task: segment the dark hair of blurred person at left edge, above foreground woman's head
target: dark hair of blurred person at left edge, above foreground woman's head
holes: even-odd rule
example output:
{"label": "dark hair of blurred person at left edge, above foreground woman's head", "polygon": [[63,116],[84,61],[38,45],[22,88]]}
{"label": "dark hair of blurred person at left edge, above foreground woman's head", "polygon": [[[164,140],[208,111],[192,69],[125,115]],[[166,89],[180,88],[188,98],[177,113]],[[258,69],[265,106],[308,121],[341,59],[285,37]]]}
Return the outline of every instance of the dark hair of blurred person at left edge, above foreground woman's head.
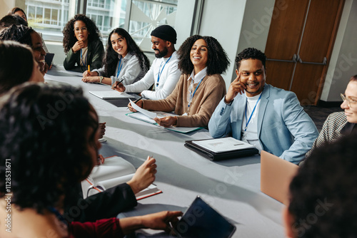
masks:
{"label": "dark hair of blurred person at left edge, above foreground woman's head", "polygon": [[29,81],[33,69],[34,56],[29,46],[16,41],[0,41],[0,95]]}

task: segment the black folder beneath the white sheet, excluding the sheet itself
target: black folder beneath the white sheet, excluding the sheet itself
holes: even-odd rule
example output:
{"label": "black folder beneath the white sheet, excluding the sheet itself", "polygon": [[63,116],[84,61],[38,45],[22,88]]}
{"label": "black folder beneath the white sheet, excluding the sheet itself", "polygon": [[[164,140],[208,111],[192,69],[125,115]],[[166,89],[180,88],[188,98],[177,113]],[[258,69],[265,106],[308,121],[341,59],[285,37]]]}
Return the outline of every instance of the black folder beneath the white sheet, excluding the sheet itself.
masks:
{"label": "black folder beneath the white sheet, excluding the sheet itself", "polygon": [[[208,140],[210,140],[210,139],[208,139]],[[196,141],[198,141],[198,140],[196,140]],[[196,145],[192,142],[193,142],[193,140],[186,140],[185,146],[187,148],[197,152],[199,155],[202,155],[203,157],[206,157],[208,160],[212,160],[212,161],[229,160],[229,159],[235,159],[238,157],[246,157],[246,156],[256,155],[259,152],[258,149],[256,149],[256,148],[231,150],[231,151],[226,151],[226,152],[213,152],[211,150],[207,150],[206,148],[202,148],[201,146]]]}

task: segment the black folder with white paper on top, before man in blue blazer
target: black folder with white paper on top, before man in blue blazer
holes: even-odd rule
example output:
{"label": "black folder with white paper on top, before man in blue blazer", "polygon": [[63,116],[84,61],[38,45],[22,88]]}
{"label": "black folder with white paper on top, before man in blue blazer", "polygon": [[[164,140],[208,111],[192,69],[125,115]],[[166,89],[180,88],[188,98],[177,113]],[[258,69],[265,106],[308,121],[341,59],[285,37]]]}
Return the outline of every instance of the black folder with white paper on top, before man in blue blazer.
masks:
{"label": "black folder with white paper on top, before man in blue blazer", "polygon": [[258,154],[253,145],[234,138],[186,140],[185,146],[208,160],[228,160]]}

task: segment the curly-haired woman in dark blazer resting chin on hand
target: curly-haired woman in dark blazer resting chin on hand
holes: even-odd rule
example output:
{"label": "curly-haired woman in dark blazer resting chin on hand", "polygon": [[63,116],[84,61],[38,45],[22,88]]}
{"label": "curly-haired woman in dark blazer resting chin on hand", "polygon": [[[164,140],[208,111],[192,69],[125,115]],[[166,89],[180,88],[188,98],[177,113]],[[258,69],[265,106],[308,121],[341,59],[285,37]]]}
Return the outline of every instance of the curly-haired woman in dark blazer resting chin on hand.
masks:
{"label": "curly-haired woman in dark blazer resting chin on hand", "polygon": [[104,46],[96,24],[83,14],[77,14],[64,26],[64,68],[84,72],[101,68]]}

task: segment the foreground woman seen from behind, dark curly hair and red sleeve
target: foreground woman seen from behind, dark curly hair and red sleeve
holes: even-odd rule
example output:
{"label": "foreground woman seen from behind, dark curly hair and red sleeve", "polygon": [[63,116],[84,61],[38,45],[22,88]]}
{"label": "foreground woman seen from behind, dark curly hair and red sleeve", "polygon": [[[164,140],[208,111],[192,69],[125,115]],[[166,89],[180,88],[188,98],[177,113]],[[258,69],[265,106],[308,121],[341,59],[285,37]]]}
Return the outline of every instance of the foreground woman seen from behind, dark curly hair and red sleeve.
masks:
{"label": "foreground woman seen from behind, dark curly hair and red sleeve", "polygon": [[25,83],[1,97],[0,237],[124,237],[177,222],[182,212],[66,220],[66,197],[97,164],[98,129],[98,115],[79,88]]}

